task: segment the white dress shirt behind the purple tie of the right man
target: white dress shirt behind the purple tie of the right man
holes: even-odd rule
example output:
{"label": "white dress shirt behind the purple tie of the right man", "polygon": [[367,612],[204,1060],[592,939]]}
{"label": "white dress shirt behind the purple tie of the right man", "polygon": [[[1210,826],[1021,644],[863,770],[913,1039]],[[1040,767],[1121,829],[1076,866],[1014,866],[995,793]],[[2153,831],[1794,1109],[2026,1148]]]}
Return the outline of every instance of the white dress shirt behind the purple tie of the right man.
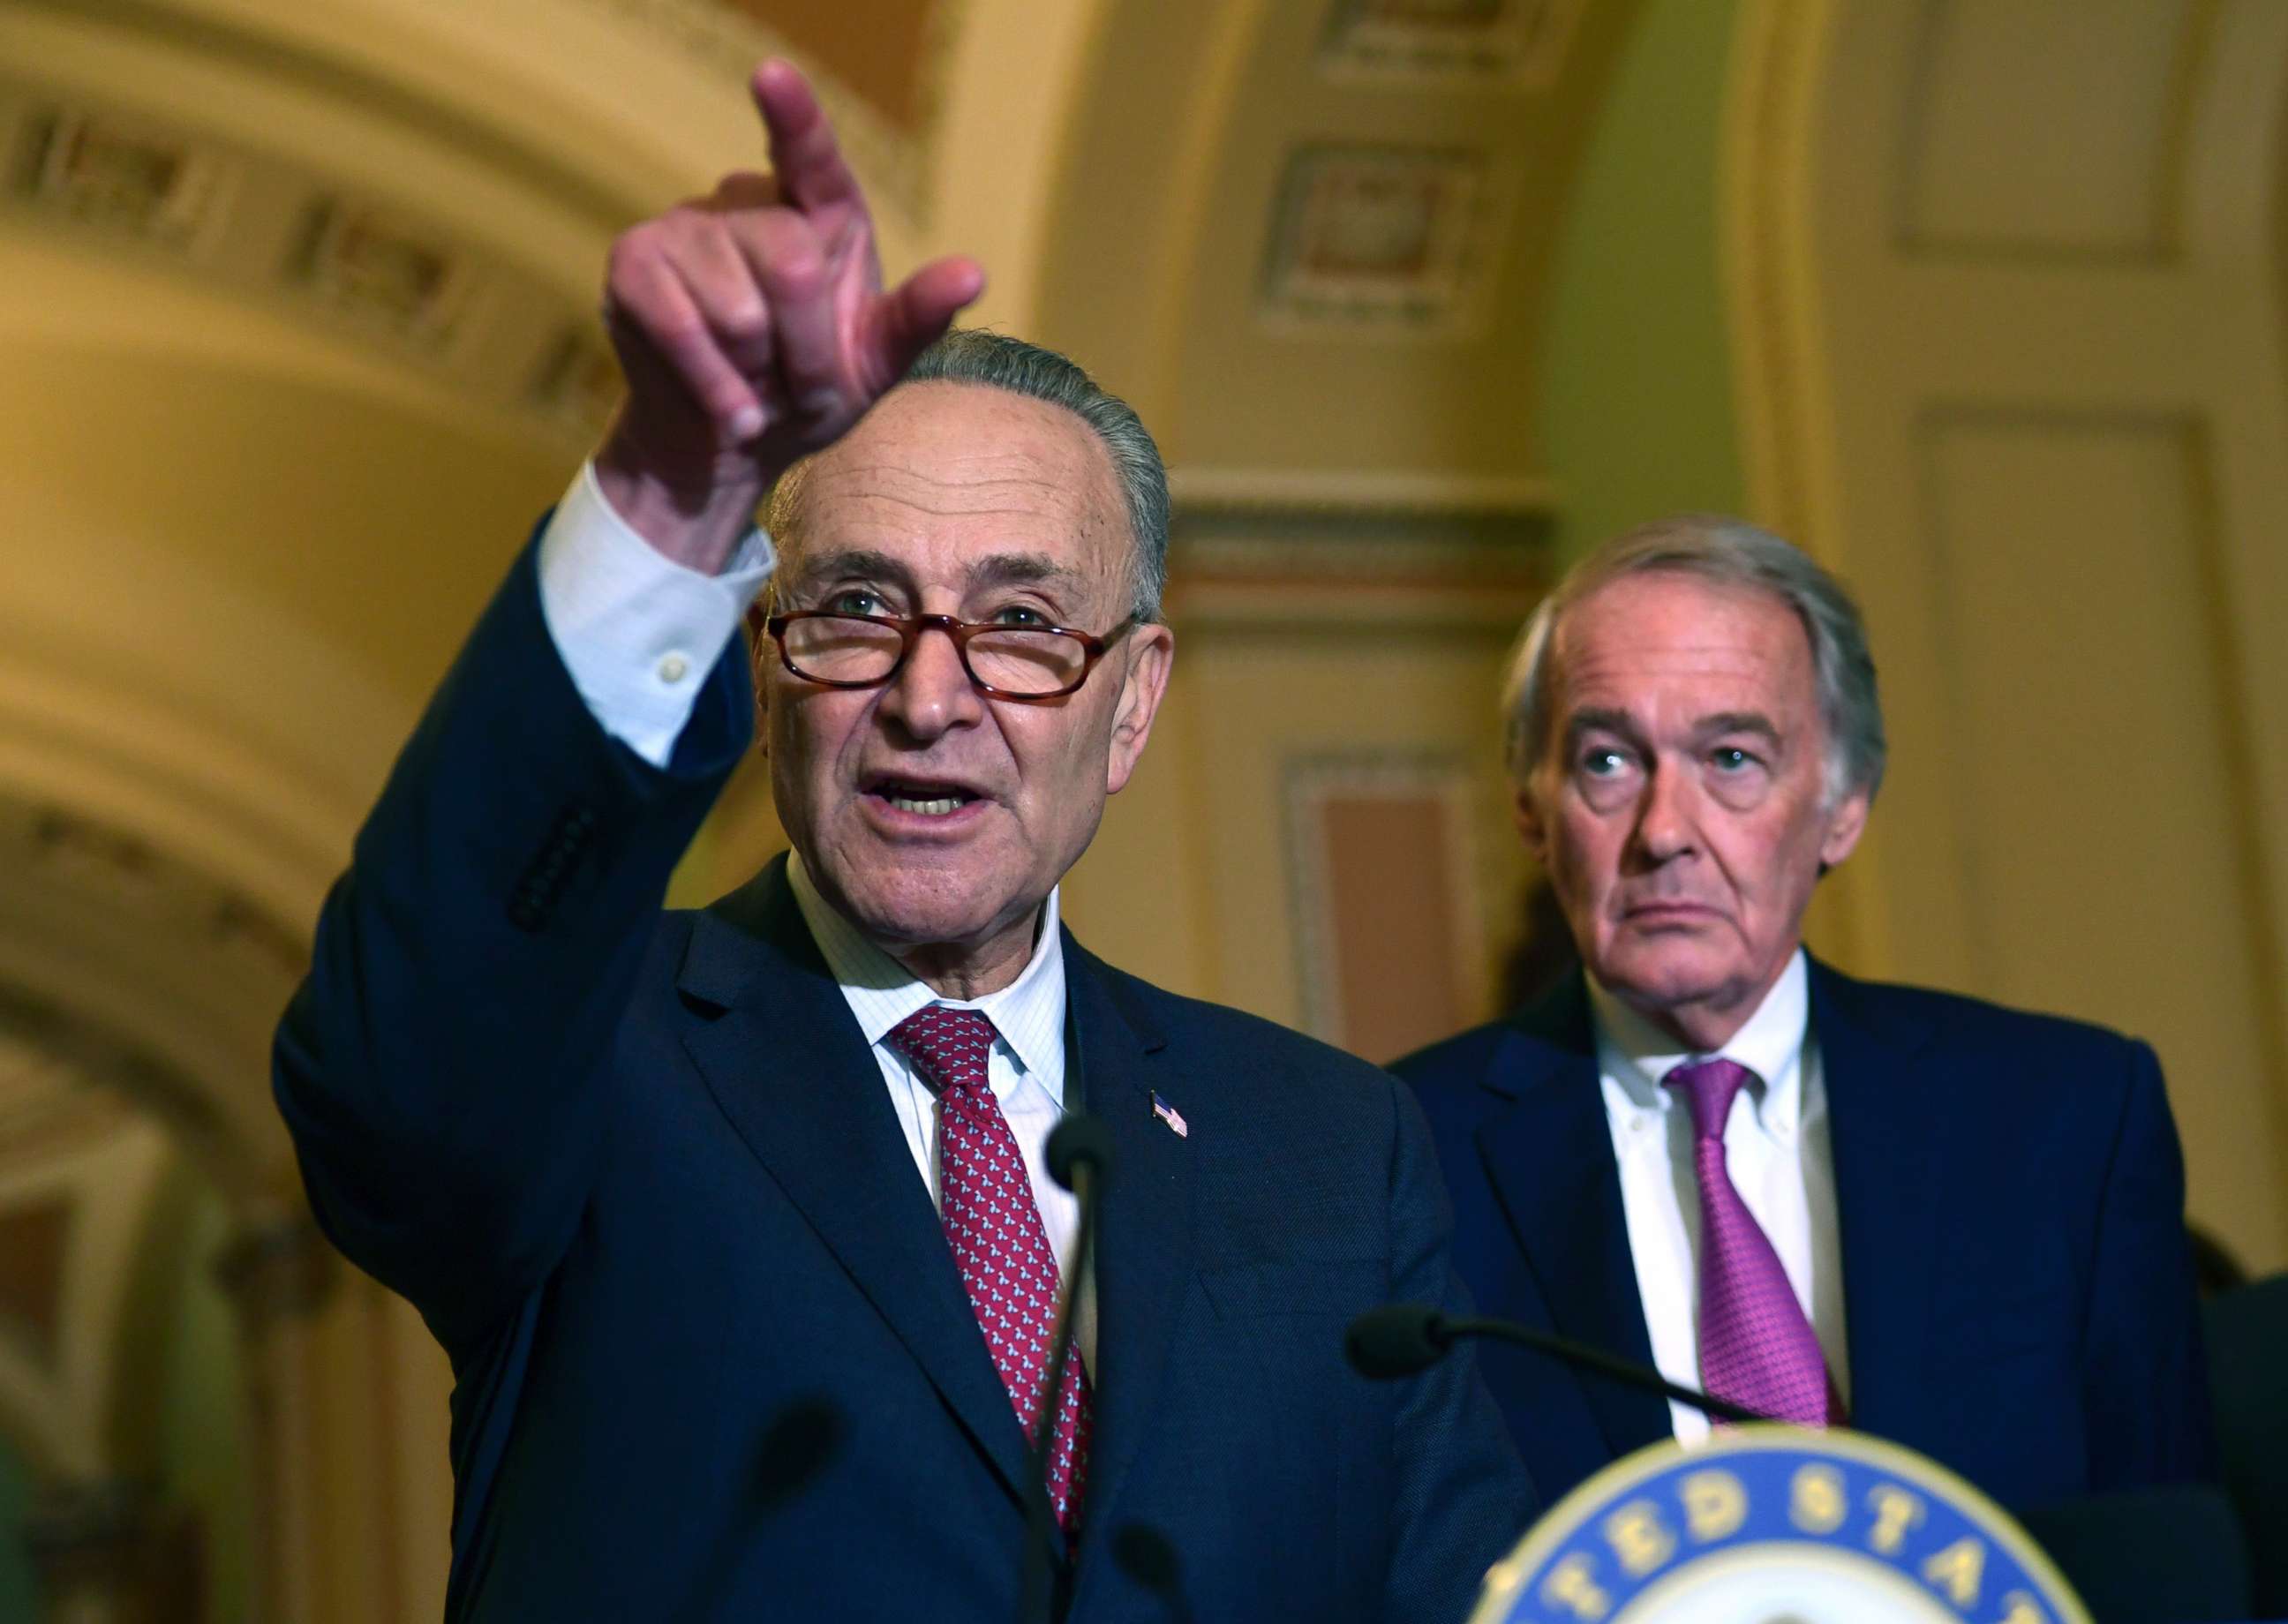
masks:
{"label": "white dress shirt behind the purple tie of the right man", "polygon": [[[1673,1068],[1707,1059],[1588,979],[1597,1027],[1620,1205],[1629,1221],[1636,1290],[1652,1334],[1652,1363],[1684,1386],[1700,1386],[1700,1183],[1693,1173],[1691,1107],[1661,1086]],[[1844,1368],[1842,1247],[1835,1231],[1835,1157],[1819,1043],[1810,1029],[1810,970],[1803,949],[1732,1041],[1716,1050],[1757,1075],[1725,1119],[1725,1167],[1741,1201],[1771,1237],[1796,1301],[1812,1320],[1835,1391],[1851,1398]],[[1682,1443],[1709,1434],[1707,1416],[1668,1407]]]}

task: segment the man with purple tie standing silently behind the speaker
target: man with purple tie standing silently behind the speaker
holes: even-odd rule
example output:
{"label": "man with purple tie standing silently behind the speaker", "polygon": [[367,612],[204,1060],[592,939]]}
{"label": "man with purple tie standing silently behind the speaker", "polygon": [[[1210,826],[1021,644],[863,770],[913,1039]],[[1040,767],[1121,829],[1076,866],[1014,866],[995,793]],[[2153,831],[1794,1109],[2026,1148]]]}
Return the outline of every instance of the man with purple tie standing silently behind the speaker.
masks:
{"label": "man with purple tie standing silently behind the speaker", "polygon": [[[1590,554],[1519,645],[1517,819],[1583,974],[1398,1070],[1487,1313],[2029,1505],[2212,1471],[2153,1050],[1805,956],[1883,782],[1858,608],[1775,535]],[[1707,1420],[1487,1361],[1535,1482]]]}

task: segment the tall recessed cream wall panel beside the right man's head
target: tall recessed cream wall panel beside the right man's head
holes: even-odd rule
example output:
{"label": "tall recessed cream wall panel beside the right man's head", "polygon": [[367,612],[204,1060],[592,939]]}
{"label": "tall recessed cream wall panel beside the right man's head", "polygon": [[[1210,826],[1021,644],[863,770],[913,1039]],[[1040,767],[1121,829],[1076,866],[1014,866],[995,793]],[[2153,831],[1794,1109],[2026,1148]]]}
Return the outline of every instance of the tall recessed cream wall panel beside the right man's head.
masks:
{"label": "tall recessed cream wall panel beside the right man's head", "polygon": [[2151,1038],[2194,1215],[2274,1233],[2245,1121],[2279,1084],[2274,956],[2199,425],[1936,414],[1924,469],[1972,986]]}

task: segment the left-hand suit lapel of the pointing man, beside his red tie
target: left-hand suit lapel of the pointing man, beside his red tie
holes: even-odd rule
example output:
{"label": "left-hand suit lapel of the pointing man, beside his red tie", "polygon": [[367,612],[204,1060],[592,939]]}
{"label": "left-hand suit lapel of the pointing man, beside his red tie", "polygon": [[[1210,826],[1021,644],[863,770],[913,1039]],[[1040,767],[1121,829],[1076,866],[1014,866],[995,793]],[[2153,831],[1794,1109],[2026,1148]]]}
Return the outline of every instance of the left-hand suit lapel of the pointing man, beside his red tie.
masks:
{"label": "left-hand suit lapel of the pointing man, beside his red tie", "polygon": [[677,986],[723,1011],[693,1025],[684,1048],[732,1128],[1023,1496],[1025,1439],[1009,1393],[785,862],[693,922]]}

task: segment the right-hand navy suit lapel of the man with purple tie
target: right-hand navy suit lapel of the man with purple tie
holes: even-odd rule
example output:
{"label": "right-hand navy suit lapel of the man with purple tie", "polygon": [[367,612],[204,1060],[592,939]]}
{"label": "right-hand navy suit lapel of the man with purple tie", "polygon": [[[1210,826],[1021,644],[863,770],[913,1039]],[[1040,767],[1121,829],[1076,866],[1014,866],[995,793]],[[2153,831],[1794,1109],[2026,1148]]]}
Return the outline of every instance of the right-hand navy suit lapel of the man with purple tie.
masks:
{"label": "right-hand navy suit lapel of the man with purple tie", "polygon": [[1931,1032],[1814,961],[1812,1034],[1835,1155],[1851,1418],[1888,1430],[1924,1386],[1938,1267],[1943,1123],[1931,1109],[1933,1080],[1915,1068]]}

